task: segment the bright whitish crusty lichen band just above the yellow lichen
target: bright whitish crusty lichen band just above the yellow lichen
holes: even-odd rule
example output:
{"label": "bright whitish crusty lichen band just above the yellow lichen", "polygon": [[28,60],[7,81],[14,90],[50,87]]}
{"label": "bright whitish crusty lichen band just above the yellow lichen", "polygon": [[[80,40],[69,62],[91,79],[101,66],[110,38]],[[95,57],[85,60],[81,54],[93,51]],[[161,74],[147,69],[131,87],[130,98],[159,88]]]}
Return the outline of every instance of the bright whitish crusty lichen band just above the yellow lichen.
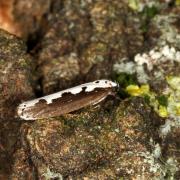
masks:
{"label": "bright whitish crusty lichen band just above the yellow lichen", "polygon": [[[148,83],[152,78],[149,77],[149,72],[154,76],[155,80],[164,80],[166,69],[163,69],[162,64],[168,63],[170,66],[176,66],[175,63],[180,63],[180,51],[175,47],[165,45],[162,47],[154,47],[147,53],[137,54],[134,57],[134,62],[122,61],[114,65],[114,71],[117,73],[137,74],[139,83]],[[147,70],[144,65],[146,65]],[[157,68],[154,71],[154,67]]]}

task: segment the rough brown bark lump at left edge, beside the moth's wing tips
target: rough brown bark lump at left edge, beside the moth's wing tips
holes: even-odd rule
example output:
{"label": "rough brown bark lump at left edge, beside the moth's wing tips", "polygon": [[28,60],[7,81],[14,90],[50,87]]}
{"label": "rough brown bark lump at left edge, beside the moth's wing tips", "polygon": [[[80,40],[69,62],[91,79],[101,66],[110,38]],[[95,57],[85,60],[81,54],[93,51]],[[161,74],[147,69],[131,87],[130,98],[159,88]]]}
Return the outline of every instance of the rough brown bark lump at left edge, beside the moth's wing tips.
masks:
{"label": "rough brown bark lump at left edge, beside the moth's wing tips", "polygon": [[[13,119],[21,99],[32,97],[33,64],[23,41],[0,30],[0,119]],[[30,96],[31,95],[31,96]]]}

